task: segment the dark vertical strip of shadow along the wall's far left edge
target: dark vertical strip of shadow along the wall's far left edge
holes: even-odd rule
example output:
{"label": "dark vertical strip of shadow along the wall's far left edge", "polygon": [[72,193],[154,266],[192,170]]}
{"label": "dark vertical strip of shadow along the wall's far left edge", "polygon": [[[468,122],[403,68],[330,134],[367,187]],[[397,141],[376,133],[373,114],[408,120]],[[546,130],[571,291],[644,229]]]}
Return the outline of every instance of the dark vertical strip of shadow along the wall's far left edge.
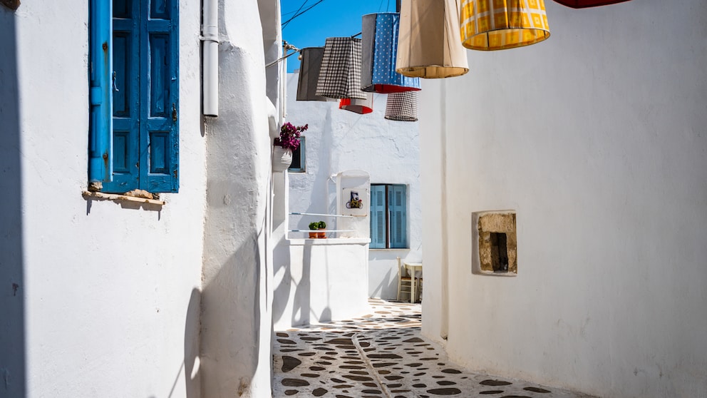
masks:
{"label": "dark vertical strip of shadow along the wall's far left edge", "polygon": [[19,90],[15,14],[0,6],[0,397],[26,396]]}

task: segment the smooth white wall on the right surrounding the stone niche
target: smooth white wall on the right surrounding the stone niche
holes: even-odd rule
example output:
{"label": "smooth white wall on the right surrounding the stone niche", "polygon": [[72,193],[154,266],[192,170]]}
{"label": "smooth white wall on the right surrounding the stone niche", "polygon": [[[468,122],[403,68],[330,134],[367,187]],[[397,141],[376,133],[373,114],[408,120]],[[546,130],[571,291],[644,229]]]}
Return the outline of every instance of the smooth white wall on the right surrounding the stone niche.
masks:
{"label": "smooth white wall on the right surrounding the stone niche", "polygon": [[[707,5],[545,4],[547,41],[423,82],[423,332],[490,374],[705,397]],[[471,213],[503,209],[518,275],[473,275]]]}

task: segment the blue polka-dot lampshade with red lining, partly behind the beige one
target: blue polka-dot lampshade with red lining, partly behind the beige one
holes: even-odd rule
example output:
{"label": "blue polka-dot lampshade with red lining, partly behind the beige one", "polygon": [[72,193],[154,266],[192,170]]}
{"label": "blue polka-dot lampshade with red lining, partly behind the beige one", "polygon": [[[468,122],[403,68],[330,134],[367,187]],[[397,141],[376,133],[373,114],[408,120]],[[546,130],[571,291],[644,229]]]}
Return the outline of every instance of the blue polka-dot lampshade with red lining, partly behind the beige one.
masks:
{"label": "blue polka-dot lampshade with red lining, partly behind the beige one", "polygon": [[396,72],[400,14],[386,12],[363,16],[361,88],[376,93],[398,93],[420,89],[420,78]]}

